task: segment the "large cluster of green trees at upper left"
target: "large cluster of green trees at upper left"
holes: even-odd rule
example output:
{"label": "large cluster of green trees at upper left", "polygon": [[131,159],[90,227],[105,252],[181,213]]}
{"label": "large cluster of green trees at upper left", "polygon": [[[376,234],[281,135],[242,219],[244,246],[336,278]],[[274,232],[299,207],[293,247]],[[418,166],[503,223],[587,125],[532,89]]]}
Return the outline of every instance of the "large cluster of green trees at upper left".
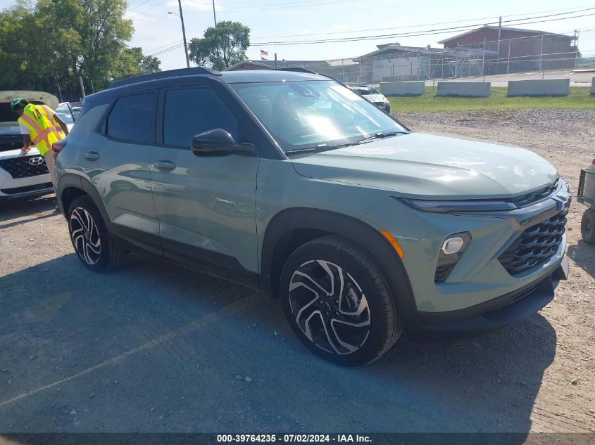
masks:
{"label": "large cluster of green trees at upper left", "polygon": [[159,70],[159,60],[128,48],[125,0],[19,0],[0,11],[0,89],[77,96],[82,77],[102,89],[113,79]]}

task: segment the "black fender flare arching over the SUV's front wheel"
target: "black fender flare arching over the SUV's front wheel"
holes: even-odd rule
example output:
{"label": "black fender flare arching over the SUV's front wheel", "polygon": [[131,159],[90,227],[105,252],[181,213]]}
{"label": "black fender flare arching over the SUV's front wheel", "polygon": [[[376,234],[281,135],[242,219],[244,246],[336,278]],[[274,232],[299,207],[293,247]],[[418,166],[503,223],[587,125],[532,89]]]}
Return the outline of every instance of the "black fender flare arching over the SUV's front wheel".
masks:
{"label": "black fender flare arching over the SUV's front wheel", "polygon": [[304,229],[342,236],[366,250],[387,279],[402,320],[411,320],[409,315],[415,314],[413,290],[405,266],[394,248],[376,228],[360,219],[329,210],[306,207],[285,209],[271,219],[261,251],[261,290],[265,295],[276,296],[278,293],[276,282],[283,264],[278,264],[277,257],[279,250],[284,250],[280,244],[292,232]]}

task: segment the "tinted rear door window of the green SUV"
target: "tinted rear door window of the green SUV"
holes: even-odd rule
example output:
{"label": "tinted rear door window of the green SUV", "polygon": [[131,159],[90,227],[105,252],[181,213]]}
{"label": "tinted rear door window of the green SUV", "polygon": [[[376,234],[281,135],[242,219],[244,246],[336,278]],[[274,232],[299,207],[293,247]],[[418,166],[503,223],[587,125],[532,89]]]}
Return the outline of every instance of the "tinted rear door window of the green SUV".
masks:
{"label": "tinted rear door window of the green SUV", "polygon": [[108,136],[123,141],[153,143],[154,93],[118,99],[108,117]]}

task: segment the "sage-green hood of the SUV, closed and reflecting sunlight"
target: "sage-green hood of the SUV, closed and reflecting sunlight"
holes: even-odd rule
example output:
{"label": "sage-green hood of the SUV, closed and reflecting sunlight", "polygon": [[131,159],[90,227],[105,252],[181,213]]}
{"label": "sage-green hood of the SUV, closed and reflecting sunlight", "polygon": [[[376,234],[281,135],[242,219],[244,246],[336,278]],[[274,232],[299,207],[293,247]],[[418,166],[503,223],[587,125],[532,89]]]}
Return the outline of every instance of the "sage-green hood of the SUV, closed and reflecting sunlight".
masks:
{"label": "sage-green hood of the SUV, closed and reflecting sunlight", "polygon": [[292,158],[302,176],[406,198],[510,198],[553,183],[556,169],[522,148],[411,133]]}

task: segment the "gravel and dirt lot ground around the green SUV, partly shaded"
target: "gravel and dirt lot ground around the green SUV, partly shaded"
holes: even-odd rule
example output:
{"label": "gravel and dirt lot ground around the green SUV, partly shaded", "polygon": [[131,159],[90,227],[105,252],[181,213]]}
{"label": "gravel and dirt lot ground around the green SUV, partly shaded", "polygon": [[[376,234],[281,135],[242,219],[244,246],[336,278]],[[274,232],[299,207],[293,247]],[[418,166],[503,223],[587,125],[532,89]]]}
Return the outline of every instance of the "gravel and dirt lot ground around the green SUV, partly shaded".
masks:
{"label": "gravel and dirt lot ground around the green SUV, partly shaded", "polygon": [[[399,117],[530,148],[573,190],[595,152],[593,110]],[[572,203],[571,278],[539,314],[475,339],[402,340],[344,369],[303,348],[277,302],[149,257],[95,275],[53,197],[4,205],[0,432],[595,432],[583,209]]]}

